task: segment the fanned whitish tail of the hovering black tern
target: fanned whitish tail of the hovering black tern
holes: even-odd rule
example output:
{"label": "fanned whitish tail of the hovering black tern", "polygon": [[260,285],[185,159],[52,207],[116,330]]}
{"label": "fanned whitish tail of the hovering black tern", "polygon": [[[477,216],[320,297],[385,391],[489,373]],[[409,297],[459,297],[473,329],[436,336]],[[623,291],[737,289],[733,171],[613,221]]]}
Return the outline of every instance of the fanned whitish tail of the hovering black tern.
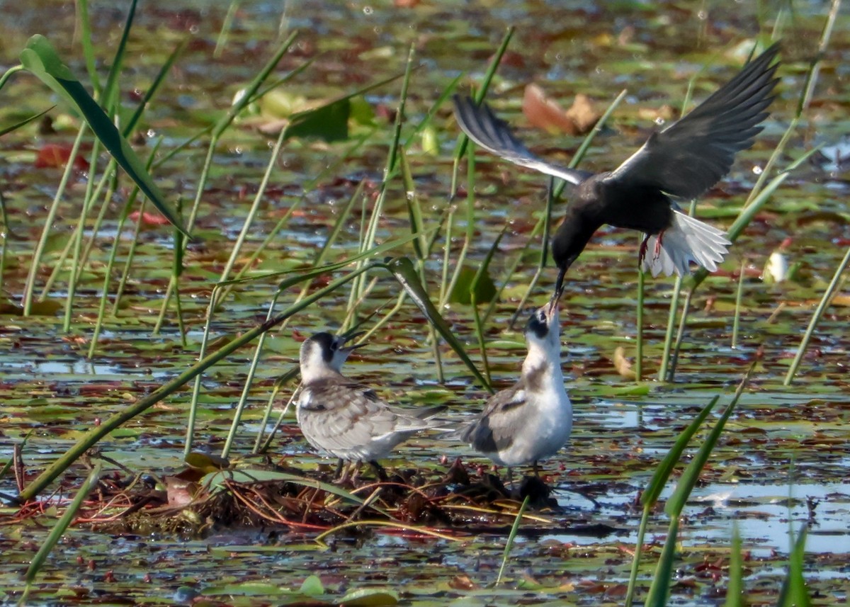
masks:
{"label": "fanned whitish tail of the hovering black tern", "polygon": [[674,210],[672,225],[647,237],[643,248],[643,271],[649,271],[653,276],[661,272],[668,276],[673,272],[684,276],[690,273],[689,262],[694,261],[713,272],[731,244],[723,231]]}

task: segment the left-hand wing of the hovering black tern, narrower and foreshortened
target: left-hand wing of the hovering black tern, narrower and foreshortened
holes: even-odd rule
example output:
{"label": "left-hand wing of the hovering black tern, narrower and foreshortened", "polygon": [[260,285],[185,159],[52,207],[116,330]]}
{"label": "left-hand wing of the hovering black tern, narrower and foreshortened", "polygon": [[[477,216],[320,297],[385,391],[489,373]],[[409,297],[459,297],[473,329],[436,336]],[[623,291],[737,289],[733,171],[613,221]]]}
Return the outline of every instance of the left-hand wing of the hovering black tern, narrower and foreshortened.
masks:
{"label": "left-hand wing of the hovering black tern, narrower and foreshortened", "polygon": [[559,167],[557,164],[538,158],[516,138],[507,126],[507,122],[498,118],[490,110],[489,105],[483,102],[481,105],[476,105],[473,99],[460,95],[455,95],[454,101],[457,124],[464,133],[467,133],[469,139],[490,154],[501,156],[520,167],[533,168],[541,173],[564,179],[571,184],[580,184],[593,174],[574,168]]}

